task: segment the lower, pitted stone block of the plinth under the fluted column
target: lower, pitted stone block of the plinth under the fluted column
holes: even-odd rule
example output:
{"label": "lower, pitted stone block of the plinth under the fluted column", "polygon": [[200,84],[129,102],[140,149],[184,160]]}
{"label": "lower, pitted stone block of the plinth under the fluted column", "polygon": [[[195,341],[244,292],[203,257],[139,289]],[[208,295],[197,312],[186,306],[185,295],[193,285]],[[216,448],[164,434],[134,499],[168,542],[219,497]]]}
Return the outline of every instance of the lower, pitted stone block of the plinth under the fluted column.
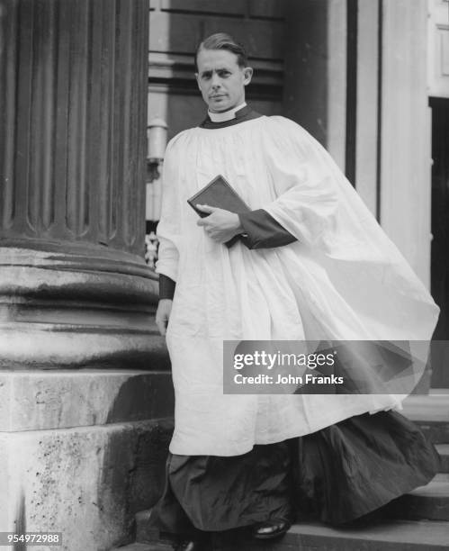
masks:
{"label": "lower, pitted stone block of the plinth under the fluted column", "polygon": [[171,420],[0,434],[0,530],[61,531],[60,551],[130,541],[162,492]]}

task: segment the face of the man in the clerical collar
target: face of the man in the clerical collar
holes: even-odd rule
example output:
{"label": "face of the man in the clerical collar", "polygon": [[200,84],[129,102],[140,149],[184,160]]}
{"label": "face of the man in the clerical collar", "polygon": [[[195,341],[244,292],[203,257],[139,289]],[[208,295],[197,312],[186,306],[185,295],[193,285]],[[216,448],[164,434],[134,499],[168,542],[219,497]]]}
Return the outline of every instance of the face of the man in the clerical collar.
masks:
{"label": "face of the man in the clerical collar", "polygon": [[202,99],[212,113],[221,113],[245,101],[245,86],[253,69],[238,66],[237,55],[228,50],[200,50],[196,80]]}

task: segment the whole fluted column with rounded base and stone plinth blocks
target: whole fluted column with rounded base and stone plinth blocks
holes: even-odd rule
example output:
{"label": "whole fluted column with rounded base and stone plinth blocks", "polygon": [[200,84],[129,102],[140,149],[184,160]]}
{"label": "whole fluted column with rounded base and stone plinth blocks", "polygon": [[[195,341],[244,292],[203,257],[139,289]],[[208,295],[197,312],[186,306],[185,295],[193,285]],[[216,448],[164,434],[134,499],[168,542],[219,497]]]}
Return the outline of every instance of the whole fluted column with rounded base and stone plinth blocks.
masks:
{"label": "whole fluted column with rounded base and stone plinth blocks", "polygon": [[96,551],[156,499],[173,408],[148,373],[148,0],[0,0],[0,82],[0,531]]}

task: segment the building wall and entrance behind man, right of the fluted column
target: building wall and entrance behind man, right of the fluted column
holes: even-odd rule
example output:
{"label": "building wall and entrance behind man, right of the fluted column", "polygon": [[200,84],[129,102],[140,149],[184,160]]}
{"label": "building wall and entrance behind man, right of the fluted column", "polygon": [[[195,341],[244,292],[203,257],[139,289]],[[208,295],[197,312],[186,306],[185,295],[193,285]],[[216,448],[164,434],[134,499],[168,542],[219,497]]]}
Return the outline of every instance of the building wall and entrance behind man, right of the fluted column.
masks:
{"label": "building wall and entrance behind man, right of the fluted column", "polygon": [[[249,102],[328,149],[431,288],[449,339],[449,2],[152,0],[149,28],[149,120],[169,138],[202,121],[193,52],[232,34],[255,68]],[[432,384],[448,387],[449,350],[433,357]]]}

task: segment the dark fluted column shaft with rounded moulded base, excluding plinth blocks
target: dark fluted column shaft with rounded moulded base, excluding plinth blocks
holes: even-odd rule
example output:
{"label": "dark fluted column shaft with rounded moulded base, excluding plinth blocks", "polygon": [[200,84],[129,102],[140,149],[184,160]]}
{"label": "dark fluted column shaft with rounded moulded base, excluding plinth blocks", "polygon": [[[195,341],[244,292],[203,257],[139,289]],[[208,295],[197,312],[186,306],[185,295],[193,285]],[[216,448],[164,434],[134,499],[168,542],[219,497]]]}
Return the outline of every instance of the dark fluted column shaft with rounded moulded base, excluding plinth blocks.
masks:
{"label": "dark fluted column shaft with rounded moulded base, excluding plinth blocks", "polygon": [[148,362],[148,0],[0,1],[0,366]]}

